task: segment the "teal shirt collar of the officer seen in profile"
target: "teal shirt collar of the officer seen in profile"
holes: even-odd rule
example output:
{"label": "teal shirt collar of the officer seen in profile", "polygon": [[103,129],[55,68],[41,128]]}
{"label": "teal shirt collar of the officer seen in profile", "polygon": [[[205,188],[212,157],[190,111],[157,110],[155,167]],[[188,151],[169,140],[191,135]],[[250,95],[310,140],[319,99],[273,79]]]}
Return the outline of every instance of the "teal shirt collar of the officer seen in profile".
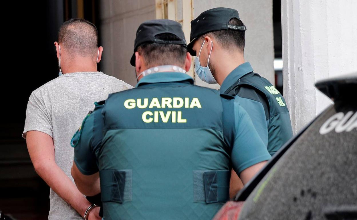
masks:
{"label": "teal shirt collar of the officer seen in profile", "polygon": [[227,89],[232,86],[235,82],[237,82],[242,76],[247,73],[253,72],[253,68],[249,62],[242,63],[237,66],[223,81],[222,86],[220,88],[220,92],[224,93]]}

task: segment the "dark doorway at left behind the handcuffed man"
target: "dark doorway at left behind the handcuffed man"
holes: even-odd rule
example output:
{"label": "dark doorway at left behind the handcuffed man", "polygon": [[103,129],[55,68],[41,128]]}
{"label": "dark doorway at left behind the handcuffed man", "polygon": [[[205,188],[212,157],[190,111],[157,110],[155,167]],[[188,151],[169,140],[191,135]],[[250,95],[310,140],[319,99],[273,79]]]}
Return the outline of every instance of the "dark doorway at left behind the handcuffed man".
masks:
{"label": "dark doorway at left behind the handcuffed man", "polygon": [[21,134],[33,90],[58,76],[54,42],[65,20],[99,23],[95,0],[6,1],[3,8],[0,210],[17,220],[48,219],[49,187],[36,174]]}

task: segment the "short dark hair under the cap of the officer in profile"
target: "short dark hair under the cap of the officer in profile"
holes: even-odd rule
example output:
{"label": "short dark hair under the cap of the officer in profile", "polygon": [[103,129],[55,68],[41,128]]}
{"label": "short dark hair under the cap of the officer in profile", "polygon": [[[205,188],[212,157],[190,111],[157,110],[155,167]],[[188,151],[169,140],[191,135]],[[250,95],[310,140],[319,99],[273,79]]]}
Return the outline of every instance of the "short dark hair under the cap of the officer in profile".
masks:
{"label": "short dark hair under the cap of the officer in profile", "polygon": [[[244,25],[241,20],[236,19],[236,18],[232,18],[231,20],[229,20],[228,24],[236,25],[236,26]],[[232,45],[236,46],[238,48],[238,50],[240,50],[242,53],[244,51],[245,31],[238,31],[238,30],[232,30],[232,29],[212,31],[212,32],[203,34],[200,37],[200,40],[203,41],[203,39],[207,35],[213,36],[217,40],[217,42],[219,44],[221,44],[222,47],[228,51],[232,50]]]}

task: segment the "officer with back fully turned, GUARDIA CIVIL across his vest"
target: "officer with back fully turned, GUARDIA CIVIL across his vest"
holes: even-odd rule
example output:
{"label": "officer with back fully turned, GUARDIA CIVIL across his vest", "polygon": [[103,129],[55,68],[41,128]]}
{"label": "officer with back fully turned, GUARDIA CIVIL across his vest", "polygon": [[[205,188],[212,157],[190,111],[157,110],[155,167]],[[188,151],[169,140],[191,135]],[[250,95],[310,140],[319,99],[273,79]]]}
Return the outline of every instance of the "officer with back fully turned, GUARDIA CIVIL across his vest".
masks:
{"label": "officer with back fully turned, GUARDIA CIVIL across his vest", "polygon": [[228,200],[231,164],[246,183],[270,154],[233,97],[185,74],[179,23],[142,23],[130,63],[136,88],[97,103],[72,139],[78,189],[101,192],[105,220],[211,219]]}

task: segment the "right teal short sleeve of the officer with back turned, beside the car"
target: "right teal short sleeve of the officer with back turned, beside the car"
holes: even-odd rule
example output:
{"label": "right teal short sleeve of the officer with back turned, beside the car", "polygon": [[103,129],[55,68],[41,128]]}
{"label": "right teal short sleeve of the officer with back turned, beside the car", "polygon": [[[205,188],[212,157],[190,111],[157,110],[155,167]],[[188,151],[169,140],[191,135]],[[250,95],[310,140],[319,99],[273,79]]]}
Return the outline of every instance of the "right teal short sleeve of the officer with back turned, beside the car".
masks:
{"label": "right teal short sleeve of the officer with back turned, beside the car", "polygon": [[233,169],[240,174],[254,164],[271,158],[266,145],[260,139],[248,113],[238,102],[235,108],[235,131],[232,147]]}

